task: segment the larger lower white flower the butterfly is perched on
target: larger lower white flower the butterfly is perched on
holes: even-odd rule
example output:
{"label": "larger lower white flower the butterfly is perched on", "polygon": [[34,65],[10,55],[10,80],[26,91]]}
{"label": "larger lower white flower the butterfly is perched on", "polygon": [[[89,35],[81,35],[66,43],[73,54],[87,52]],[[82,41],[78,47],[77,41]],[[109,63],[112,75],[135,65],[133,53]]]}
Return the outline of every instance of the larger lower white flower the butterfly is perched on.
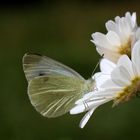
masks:
{"label": "larger lower white flower the butterfly is perched on", "polygon": [[115,106],[138,95],[140,92],[140,41],[137,41],[132,49],[131,60],[127,55],[121,56],[110,73],[110,78],[106,78],[104,83],[99,84],[99,91],[87,93],[70,111],[71,114],[88,111],[80,122],[81,128],[100,105],[113,100],[113,106]]}

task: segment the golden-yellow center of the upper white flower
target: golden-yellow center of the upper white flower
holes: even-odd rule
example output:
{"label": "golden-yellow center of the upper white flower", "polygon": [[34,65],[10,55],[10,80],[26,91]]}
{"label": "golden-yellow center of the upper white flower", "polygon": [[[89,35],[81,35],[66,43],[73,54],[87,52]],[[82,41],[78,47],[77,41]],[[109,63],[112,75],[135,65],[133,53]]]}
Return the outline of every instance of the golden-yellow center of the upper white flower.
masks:
{"label": "golden-yellow center of the upper white flower", "polygon": [[120,47],[119,53],[121,55],[126,54],[128,57],[131,57],[131,39],[128,39],[128,41]]}

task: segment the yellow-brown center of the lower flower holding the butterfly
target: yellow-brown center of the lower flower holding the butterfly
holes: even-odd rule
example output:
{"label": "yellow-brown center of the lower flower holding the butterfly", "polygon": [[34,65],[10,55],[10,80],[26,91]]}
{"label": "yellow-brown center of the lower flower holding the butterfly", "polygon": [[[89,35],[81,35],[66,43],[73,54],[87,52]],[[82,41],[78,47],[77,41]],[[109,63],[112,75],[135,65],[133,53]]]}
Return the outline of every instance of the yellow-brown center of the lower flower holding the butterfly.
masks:
{"label": "yellow-brown center of the lower flower holding the butterfly", "polygon": [[117,93],[114,99],[113,106],[118,105],[121,102],[129,101],[133,97],[136,97],[140,92],[140,77],[136,77],[131,81],[131,84],[123,89],[122,92]]}

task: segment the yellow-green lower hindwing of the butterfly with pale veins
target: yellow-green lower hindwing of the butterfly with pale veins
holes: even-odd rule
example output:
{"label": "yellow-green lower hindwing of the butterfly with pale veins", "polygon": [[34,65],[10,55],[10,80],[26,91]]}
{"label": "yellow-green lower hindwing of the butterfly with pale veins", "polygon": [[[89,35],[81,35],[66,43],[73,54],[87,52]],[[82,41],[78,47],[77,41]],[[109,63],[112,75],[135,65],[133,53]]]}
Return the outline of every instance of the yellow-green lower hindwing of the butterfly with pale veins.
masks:
{"label": "yellow-green lower hindwing of the butterfly with pale veins", "polygon": [[58,117],[72,109],[84,94],[85,80],[64,75],[40,76],[32,79],[28,95],[32,105],[43,116]]}

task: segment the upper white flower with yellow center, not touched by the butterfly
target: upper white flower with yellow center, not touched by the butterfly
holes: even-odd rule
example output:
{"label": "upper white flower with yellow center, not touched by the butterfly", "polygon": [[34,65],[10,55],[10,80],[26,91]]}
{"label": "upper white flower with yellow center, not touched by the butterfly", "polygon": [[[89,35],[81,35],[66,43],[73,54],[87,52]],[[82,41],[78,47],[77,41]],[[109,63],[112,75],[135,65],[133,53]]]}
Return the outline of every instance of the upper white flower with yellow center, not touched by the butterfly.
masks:
{"label": "upper white flower with yellow center, not touched by the butterfly", "polygon": [[140,29],[137,27],[136,13],[127,12],[125,17],[115,17],[115,21],[106,23],[107,34],[93,33],[91,40],[100,55],[117,63],[121,55],[131,55],[134,43],[140,38]]}

